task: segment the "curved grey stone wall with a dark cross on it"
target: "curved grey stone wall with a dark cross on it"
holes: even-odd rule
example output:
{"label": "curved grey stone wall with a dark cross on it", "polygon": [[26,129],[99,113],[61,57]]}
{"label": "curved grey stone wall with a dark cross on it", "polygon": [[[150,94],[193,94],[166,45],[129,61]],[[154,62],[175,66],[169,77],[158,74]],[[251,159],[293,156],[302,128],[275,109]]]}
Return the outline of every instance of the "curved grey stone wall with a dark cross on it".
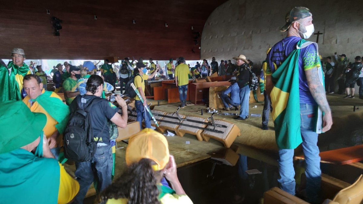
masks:
{"label": "curved grey stone wall with a dark cross on it", "polygon": [[[285,15],[295,6],[304,6],[313,13],[315,32],[319,36],[319,54],[346,54],[350,62],[363,56],[362,1],[314,0],[229,0],[217,7],[204,25],[201,39],[201,59],[216,61],[244,54],[261,65],[266,50],[286,37],[280,32]],[[317,35],[310,41],[316,42]]]}

